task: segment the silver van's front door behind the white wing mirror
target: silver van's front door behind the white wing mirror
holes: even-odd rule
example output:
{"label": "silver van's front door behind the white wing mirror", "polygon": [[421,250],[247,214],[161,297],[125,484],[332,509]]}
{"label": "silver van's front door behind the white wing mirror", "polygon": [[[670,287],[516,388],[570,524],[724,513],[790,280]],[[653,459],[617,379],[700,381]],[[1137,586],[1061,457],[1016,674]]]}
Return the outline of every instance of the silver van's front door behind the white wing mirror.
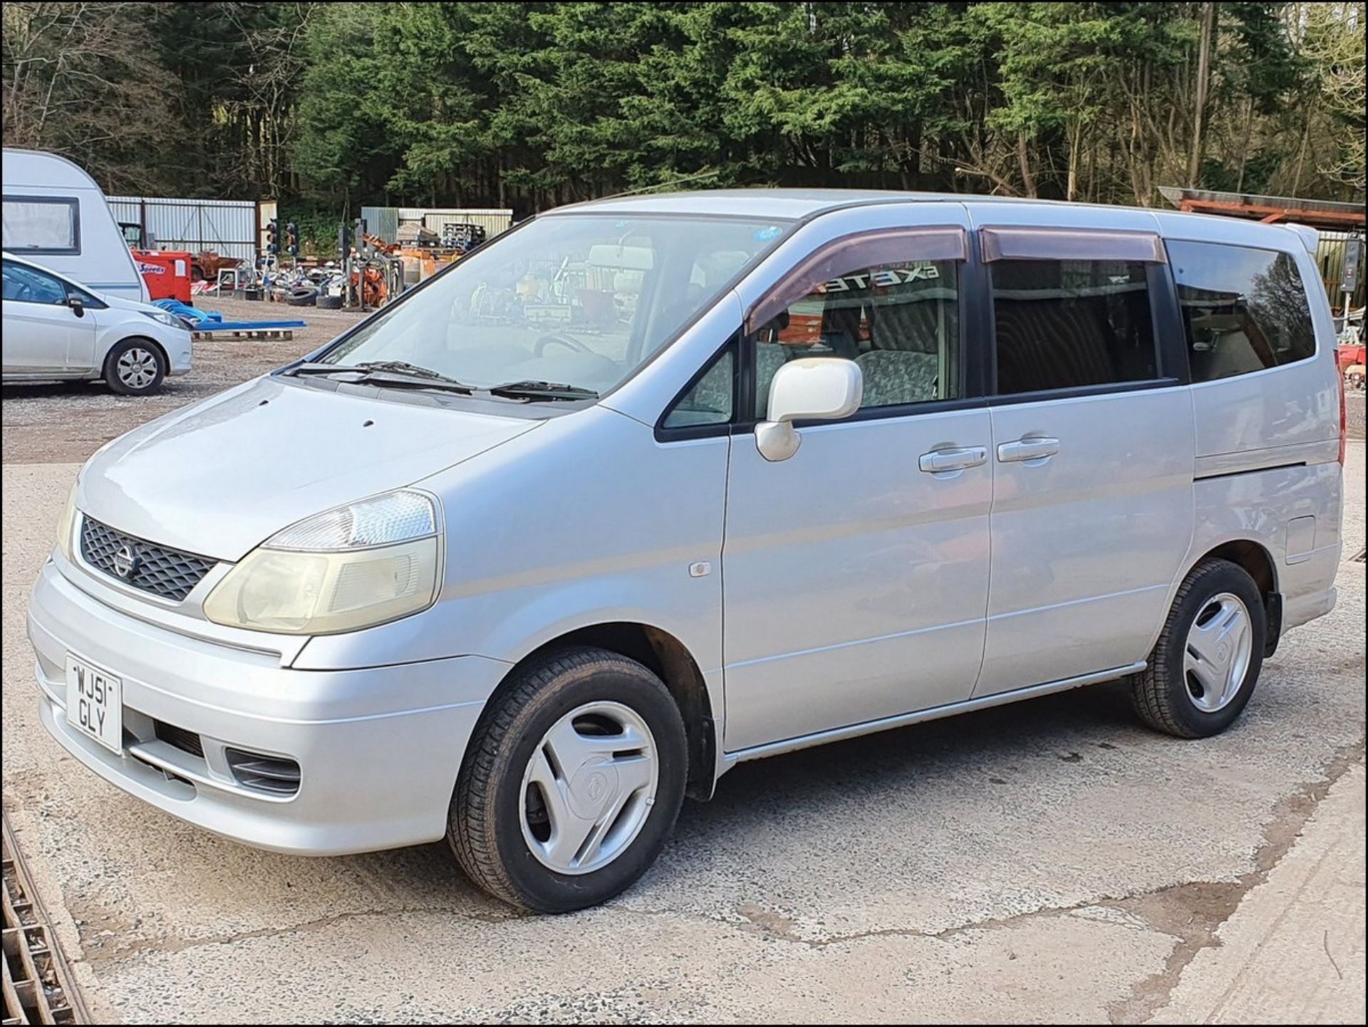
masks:
{"label": "silver van's front door behind the white wing mirror", "polygon": [[[955,232],[956,246],[962,234]],[[955,249],[953,246],[951,249]],[[788,360],[843,357],[860,410],[770,462],[733,439],[722,548],[726,751],[967,699],[982,658],[993,465],[966,399],[964,250],[843,239],[743,339],[763,420]],[[818,257],[819,254],[814,254]],[[813,282],[813,269],[819,268]],[[796,274],[796,272],[795,272]]]}

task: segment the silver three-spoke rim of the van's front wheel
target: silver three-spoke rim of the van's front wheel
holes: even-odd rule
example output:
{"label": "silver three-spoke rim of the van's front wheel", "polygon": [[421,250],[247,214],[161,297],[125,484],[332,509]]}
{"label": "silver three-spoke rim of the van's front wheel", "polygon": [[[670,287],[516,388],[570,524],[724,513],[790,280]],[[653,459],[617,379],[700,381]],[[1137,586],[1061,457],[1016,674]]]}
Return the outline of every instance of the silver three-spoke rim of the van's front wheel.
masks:
{"label": "silver three-spoke rim of the van's front wheel", "polygon": [[523,773],[523,840],[558,874],[621,856],[655,803],[655,738],[621,703],[586,703],[557,721]]}

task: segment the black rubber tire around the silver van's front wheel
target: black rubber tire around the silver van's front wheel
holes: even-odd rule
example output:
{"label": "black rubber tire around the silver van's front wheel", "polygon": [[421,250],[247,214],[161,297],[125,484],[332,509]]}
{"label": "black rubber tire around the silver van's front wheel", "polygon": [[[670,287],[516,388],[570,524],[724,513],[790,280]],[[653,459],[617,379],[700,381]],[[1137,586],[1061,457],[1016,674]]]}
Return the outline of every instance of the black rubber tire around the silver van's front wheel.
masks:
{"label": "black rubber tire around the silver van's front wheel", "polygon": [[[480,717],[465,751],[447,842],[466,875],[497,898],[546,913],[598,905],[631,888],[655,862],[674,826],[688,774],[684,722],[669,691],[633,659],[598,648],[536,658]],[[654,804],[636,837],[607,866],[561,874],[523,836],[523,774],[547,730],[586,703],[629,707],[650,728],[658,766]]]}

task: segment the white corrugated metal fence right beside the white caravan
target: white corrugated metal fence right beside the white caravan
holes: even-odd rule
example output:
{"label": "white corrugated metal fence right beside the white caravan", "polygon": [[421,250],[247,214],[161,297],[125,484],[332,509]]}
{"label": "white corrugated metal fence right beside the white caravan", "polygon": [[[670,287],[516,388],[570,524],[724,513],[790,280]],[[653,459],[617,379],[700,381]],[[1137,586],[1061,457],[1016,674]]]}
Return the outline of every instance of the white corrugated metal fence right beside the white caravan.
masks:
{"label": "white corrugated metal fence right beside the white caravan", "polygon": [[[269,208],[269,209],[268,209]],[[216,250],[224,257],[254,260],[261,231],[275,216],[275,204],[254,200],[174,200],[111,196],[114,219],[142,227],[153,245],[167,250]]]}

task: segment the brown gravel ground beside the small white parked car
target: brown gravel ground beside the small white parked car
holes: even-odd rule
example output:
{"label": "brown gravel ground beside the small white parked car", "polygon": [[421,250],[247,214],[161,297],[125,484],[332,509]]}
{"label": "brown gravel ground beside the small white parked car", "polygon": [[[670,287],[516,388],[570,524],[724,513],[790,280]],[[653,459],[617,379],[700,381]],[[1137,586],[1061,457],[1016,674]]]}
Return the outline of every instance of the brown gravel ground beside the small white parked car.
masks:
{"label": "brown gravel ground beside the small white parked car", "polygon": [[186,403],[222,392],[317,349],[356,324],[360,313],[312,306],[200,299],[201,309],[233,320],[308,321],[289,341],[224,339],[194,343],[189,375],[167,379],[157,395],[135,398],[111,392],[104,383],[63,382],[4,387],[4,462],[82,462],[109,439]]}

